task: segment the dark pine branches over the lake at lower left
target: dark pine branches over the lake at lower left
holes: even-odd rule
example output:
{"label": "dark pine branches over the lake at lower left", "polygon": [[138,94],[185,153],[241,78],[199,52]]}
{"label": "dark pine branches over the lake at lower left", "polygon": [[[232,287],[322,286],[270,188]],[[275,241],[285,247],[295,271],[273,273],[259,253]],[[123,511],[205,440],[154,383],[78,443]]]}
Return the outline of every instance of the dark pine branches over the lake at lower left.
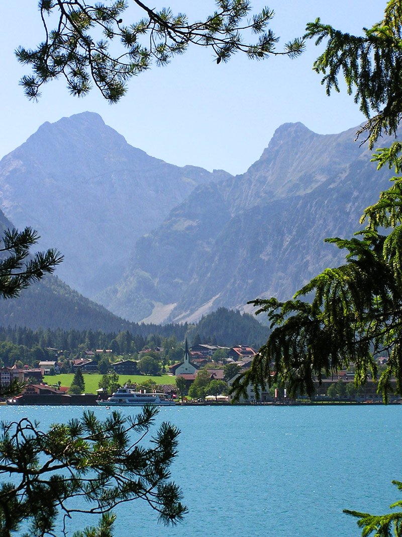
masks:
{"label": "dark pine branches over the lake at lower left", "polygon": [[[1,535],[11,535],[23,522],[29,524],[29,535],[54,535],[56,527],[62,528],[57,534],[66,535],[66,520],[82,513],[103,515],[100,525],[110,532],[110,510],[139,498],[163,523],[181,520],[187,509],[180,489],[169,481],[180,431],[162,423],[150,447],[139,444],[157,412],[148,407],[136,417],[113,412],[102,421],[85,411],[82,418],[52,425],[47,432],[27,418],[3,423]],[[72,497],[85,501],[73,506]]]}

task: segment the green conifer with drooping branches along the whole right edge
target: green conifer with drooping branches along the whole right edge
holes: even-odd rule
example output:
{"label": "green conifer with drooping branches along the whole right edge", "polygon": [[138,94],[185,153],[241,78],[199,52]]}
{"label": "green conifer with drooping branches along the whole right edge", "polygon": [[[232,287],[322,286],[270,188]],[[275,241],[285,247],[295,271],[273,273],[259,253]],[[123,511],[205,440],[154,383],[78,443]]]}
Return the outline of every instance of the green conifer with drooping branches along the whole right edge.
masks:
{"label": "green conifer with drooping branches along the whole right edge", "polygon": [[[327,93],[340,90],[343,75],[347,91],[367,118],[359,130],[370,148],[382,133],[397,135],[402,118],[402,0],[386,4],[384,19],[356,37],[334,30],[319,19],[307,26],[307,38],[319,44],[328,39],[314,64],[324,74]],[[378,167],[402,171],[402,144],[376,151]],[[266,313],[272,333],[254,359],[250,371],[234,383],[236,395],[251,382],[256,393],[264,383],[287,383],[291,394],[314,393],[313,377],[331,375],[355,364],[355,386],[377,375],[376,355],[388,354],[378,390],[387,401],[396,379],[402,393],[402,178],[382,192],[366,209],[361,222],[366,229],[350,240],[329,239],[346,251],[345,264],[326,269],[298,291],[293,300],[254,300],[257,313]],[[383,228],[389,232],[382,234]],[[303,300],[306,297],[306,300]],[[402,483],[394,481],[399,490]],[[391,505],[401,507],[402,502]],[[402,535],[402,512],[373,515],[345,510],[358,518],[362,535]]]}

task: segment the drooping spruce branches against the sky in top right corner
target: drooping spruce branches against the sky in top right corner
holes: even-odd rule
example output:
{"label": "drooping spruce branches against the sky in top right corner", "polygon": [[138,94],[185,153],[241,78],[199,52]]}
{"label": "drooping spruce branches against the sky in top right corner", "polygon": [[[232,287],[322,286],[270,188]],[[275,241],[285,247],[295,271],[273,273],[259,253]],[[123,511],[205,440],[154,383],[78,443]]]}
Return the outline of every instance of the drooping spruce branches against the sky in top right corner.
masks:
{"label": "drooping spruce branches against the sky in top right corner", "polygon": [[356,36],[322,24],[317,18],[307,25],[305,38],[326,47],[314,62],[314,69],[324,74],[326,92],[340,91],[339,75],[344,77],[347,92],[367,118],[358,134],[366,133],[370,149],[384,132],[396,134],[402,113],[402,4],[391,0],[384,18]]}

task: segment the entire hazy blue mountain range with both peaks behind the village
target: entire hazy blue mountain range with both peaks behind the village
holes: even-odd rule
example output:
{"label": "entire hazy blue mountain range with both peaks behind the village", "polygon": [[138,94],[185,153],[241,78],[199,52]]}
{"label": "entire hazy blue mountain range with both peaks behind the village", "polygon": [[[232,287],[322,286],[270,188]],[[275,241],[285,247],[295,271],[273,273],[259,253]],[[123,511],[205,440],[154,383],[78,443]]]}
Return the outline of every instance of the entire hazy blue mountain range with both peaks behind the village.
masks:
{"label": "entire hazy blue mountain range with both peaks behind the village", "polygon": [[122,318],[250,311],[248,300],[287,299],[339,264],[324,239],[350,237],[388,187],[390,172],[376,171],[355,131],[281,125],[231,176],[150,157],[98,114],[76,114],[43,124],[2,159],[0,203],[18,228],[39,230],[40,249],[65,254],[59,278]]}

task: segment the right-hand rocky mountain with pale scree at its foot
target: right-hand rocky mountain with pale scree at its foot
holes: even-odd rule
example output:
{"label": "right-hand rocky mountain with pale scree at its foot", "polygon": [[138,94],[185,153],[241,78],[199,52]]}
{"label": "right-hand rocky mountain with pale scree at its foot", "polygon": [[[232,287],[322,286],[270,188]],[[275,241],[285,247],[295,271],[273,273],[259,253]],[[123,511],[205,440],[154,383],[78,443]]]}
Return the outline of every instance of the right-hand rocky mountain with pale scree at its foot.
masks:
{"label": "right-hand rocky mountain with pale scree at its foot", "polygon": [[355,132],[282,125],[247,172],[199,185],[140,238],[124,278],[98,299],[131,320],[193,322],[259,296],[291,297],[341,262],[324,239],[351,237],[389,187],[390,171],[376,170]]}

